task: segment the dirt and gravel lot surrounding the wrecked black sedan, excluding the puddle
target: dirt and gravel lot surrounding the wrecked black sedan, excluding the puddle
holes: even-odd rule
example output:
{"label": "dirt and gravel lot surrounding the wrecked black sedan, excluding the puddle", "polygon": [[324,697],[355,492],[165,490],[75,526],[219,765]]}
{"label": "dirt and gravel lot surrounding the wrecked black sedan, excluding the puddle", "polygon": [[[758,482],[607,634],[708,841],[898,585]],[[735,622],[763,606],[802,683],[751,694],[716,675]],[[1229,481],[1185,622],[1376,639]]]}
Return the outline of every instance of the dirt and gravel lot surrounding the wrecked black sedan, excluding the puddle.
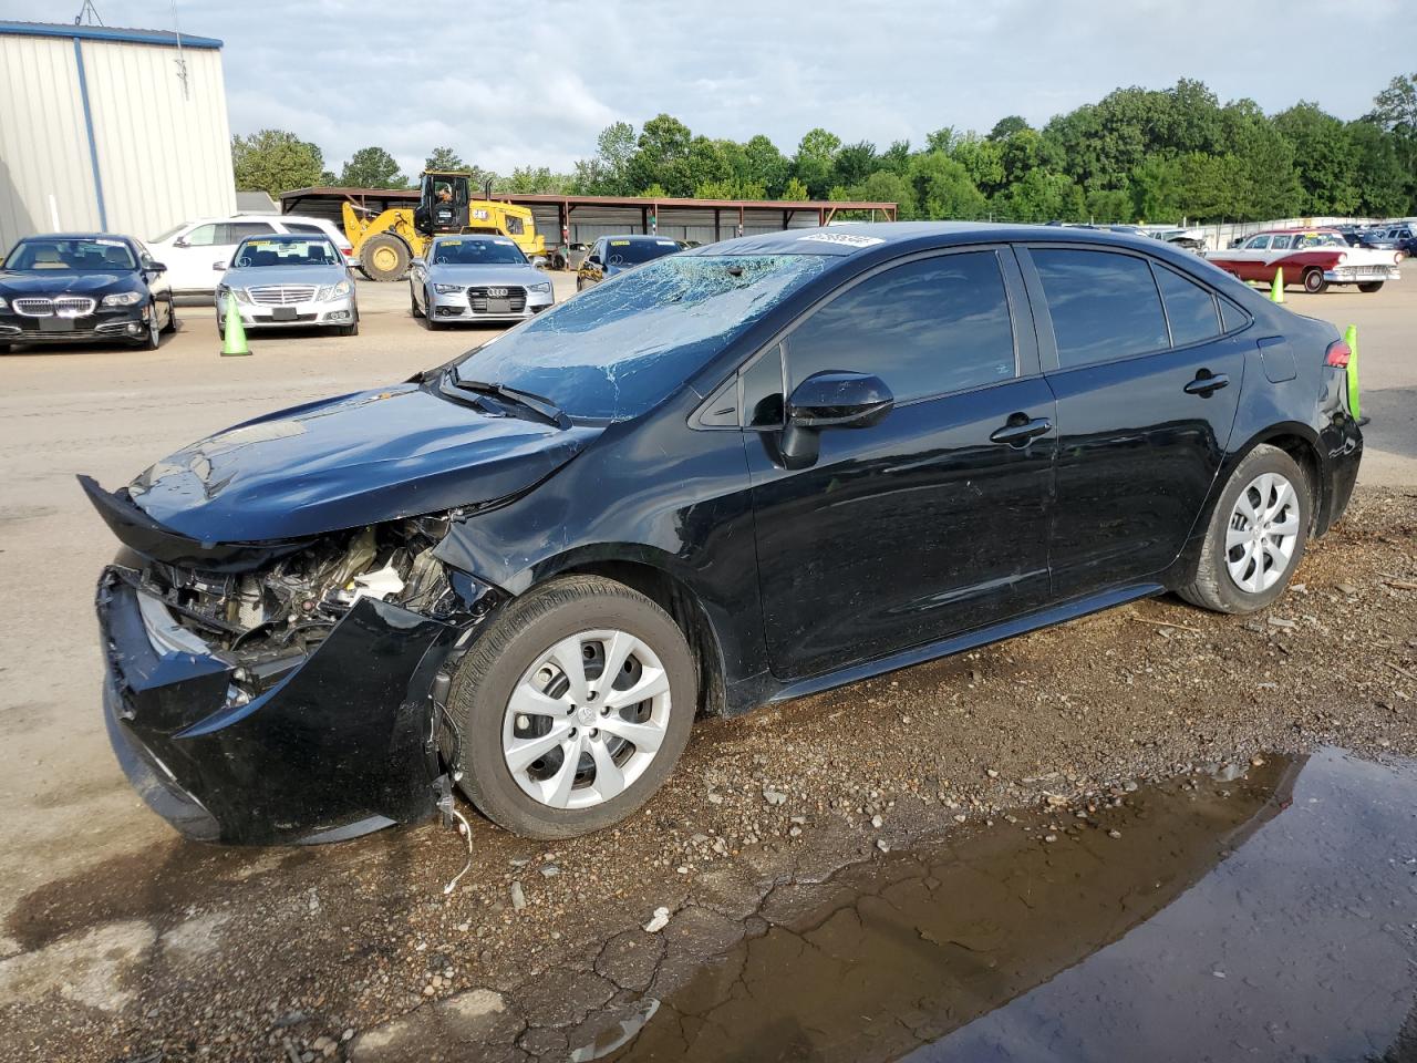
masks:
{"label": "dirt and gravel lot surrounding the wrecked black sedan, excluding the puddle", "polygon": [[[91,600],[113,544],[72,476],[120,483],[221,425],[476,342],[425,332],[405,289],[373,288],[354,339],[218,359],[211,310],[190,308],[154,353],[0,361],[0,1059],[564,1054],[588,1018],[687,979],[774,892],[883,846],[1003,829],[1050,795],[1187,765],[1315,744],[1417,755],[1417,285],[1403,282],[1291,295],[1357,322],[1374,422],[1348,517],[1267,615],[1142,602],[704,720],[665,792],[615,831],[547,848],[475,819],[451,894],[463,852],[435,825],[320,849],[180,842],[103,736]],[[669,927],[639,930],[660,907]]]}

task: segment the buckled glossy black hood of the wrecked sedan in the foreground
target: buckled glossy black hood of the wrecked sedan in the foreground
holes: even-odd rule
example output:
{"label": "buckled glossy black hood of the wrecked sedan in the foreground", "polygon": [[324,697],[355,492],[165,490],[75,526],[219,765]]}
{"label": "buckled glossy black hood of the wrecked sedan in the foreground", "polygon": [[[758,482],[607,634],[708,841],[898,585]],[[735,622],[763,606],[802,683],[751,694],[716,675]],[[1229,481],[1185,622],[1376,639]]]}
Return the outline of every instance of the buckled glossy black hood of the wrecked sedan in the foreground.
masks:
{"label": "buckled glossy black hood of the wrecked sedan in the foreground", "polygon": [[299,539],[517,495],[601,431],[499,417],[400,384],[228,428],[153,465],[128,496],[201,543]]}

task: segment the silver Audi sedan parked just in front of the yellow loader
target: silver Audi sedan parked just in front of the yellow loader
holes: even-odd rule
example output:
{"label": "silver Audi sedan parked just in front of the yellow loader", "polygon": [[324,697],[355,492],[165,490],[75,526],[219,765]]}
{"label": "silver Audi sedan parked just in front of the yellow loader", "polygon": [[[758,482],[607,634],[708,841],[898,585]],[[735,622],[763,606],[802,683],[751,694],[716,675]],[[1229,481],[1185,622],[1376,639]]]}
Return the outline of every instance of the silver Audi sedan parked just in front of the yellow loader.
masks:
{"label": "silver Audi sedan parked just in front of the yellow loader", "polygon": [[551,281],[506,237],[434,237],[408,269],[415,317],[429,329],[451,322],[520,322],[555,303]]}

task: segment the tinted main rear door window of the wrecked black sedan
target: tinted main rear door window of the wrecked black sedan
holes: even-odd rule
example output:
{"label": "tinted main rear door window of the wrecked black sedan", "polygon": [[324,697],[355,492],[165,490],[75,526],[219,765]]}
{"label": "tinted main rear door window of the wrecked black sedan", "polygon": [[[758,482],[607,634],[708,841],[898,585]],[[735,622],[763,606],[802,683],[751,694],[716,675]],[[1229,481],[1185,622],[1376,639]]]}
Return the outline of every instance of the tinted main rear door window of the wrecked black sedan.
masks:
{"label": "tinted main rear door window of the wrecked black sedan", "polygon": [[1032,254],[1063,369],[1170,346],[1146,259],[1054,248]]}

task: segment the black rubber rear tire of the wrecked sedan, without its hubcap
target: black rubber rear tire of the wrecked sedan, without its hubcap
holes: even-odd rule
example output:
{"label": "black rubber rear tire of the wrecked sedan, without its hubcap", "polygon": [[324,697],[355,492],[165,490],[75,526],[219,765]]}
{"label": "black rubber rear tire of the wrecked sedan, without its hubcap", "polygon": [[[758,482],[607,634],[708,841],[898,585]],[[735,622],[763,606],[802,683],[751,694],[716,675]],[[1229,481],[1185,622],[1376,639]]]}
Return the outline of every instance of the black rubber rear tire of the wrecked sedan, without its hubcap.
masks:
{"label": "black rubber rear tire of the wrecked sedan, without its hubcap", "polygon": [[[1299,526],[1288,564],[1280,578],[1267,590],[1251,592],[1241,590],[1230,575],[1226,534],[1230,530],[1240,493],[1265,472],[1280,473],[1294,486]],[[1314,488],[1304,475],[1304,469],[1278,446],[1260,444],[1240,461],[1220,492],[1214,512],[1210,514],[1210,526],[1206,529],[1200,556],[1196,558],[1196,570],[1190,581],[1179,588],[1180,597],[1192,605],[1214,612],[1244,614],[1268,607],[1284,594],[1299,567],[1299,561],[1304,560],[1304,547],[1308,543],[1312,520]]]}

